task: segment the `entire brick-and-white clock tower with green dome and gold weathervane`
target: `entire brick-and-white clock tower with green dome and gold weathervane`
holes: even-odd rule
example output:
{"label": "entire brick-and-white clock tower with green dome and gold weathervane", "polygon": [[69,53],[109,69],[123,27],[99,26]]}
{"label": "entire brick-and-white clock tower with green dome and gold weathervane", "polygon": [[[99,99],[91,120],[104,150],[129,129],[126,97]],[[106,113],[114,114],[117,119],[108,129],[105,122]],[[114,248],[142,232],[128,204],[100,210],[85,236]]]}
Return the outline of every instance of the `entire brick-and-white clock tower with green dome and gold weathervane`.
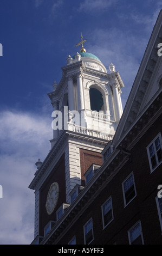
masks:
{"label": "entire brick-and-white clock tower with green dome and gold weathervane", "polygon": [[100,153],[122,115],[119,72],[112,63],[107,72],[98,57],[86,52],[85,41],[81,35],[76,45],[82,45],[80,53],[68,56],[60,82],[48,93],[53,105],[51,149],[29,185],[35,190],[35,241],[43,239],[48,225],[55,225],[73,203],[74,192],[77,197],[100,168]]}

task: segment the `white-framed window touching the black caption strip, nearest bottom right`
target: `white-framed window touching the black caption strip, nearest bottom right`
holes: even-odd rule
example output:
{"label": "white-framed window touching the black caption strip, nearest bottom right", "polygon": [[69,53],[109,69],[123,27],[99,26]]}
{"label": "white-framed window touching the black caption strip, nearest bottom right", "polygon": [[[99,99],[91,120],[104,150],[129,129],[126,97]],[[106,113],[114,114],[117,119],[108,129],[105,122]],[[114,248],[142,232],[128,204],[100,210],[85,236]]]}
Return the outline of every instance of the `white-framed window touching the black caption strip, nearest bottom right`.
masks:
{"label": "white-framed window touching the black caption strip, nearest bottom right", "polygon": [[136,223],[131,229],[128,231],[128,238],[130,245],[144,245],[144,239],[142,236],[141,223]]}

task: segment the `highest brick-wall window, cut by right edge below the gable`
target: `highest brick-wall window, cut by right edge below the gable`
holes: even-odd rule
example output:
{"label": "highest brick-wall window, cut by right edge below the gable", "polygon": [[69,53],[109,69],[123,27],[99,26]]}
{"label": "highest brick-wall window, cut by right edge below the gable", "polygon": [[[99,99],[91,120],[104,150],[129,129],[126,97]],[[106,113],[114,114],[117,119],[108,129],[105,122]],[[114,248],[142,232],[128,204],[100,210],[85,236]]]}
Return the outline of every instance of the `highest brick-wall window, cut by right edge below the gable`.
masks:
{"label": "highest brick-wall window, cut by right edge below the gable", "polygon": [[147,147],[147,155],[150,163],[151,172],[162,162],[161,133],[153,139]]}

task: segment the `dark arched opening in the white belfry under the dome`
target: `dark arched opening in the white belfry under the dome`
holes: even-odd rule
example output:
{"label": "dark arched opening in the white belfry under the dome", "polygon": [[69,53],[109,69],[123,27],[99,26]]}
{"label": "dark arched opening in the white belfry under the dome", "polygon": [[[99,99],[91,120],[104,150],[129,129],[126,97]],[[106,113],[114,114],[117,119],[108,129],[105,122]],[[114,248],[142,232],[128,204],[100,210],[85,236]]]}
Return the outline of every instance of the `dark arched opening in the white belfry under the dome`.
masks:
{"label": "dark arched opening in the white belfry under the dome", "polygon": [[101,111],[103,109],[103,98],[102,94],[98,89],[90,88],[89,90],[89,97],[90,97],[90,109],[92,111]]}

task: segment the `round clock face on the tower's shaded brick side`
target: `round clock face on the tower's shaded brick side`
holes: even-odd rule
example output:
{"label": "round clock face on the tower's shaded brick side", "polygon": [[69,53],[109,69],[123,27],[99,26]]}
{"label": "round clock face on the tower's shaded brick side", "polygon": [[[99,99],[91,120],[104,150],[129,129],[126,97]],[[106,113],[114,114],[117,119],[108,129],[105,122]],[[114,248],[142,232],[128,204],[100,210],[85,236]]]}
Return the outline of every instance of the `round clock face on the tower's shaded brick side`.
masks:
{"label": "round clock face on the tower's shaded brick side", "polygon": [[50,185],[48,195],[47,195],[46,210],[48,215],[53,213],[56,207],[58,198],[59,198],[59,184],[57,182],[54,182],[53,184]]}

